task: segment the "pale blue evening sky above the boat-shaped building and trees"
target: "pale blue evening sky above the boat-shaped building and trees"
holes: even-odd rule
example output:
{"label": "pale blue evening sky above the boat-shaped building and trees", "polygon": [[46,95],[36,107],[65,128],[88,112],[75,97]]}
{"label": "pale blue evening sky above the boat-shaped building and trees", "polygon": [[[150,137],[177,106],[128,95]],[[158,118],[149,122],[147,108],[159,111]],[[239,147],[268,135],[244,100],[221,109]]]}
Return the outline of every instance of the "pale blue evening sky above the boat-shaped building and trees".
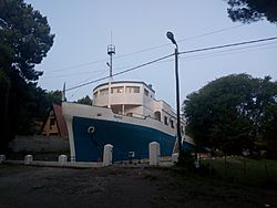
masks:
{"label": "pale blue evening sky above the boat-shaped building and trees", "polygon": [[[62,90],[109,75],[106,48],[115,45],[113,73],[174,52],[172,31],[181,52],[277,37],[266,20],[232,22],[225,0],[25,0],[48,18],[54,44],[35,70],[39,85]],[[277,41],[179,55],[181,102],[208,82],[237,73],[277,80]],[[175,106],[174,59],[113,77],[152,84],[156,100]],[[107,80],[66,91],[68,101],[85,95]]]}

